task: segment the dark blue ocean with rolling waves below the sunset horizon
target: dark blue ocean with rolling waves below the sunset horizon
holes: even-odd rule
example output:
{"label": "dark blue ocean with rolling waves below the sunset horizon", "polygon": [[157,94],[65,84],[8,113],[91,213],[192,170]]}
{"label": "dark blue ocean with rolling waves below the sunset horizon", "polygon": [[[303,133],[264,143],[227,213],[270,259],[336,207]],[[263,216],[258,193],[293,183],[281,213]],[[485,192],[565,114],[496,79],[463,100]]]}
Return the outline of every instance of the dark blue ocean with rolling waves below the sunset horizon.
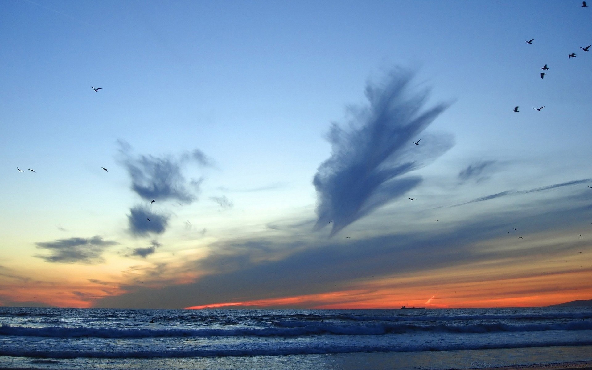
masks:
{"label": "dark blue ocean with rolling waves below the sunset horizon", "polygon": [[592,307],[0,307],[0,324],[0,368],[437,370],[592,361]]}

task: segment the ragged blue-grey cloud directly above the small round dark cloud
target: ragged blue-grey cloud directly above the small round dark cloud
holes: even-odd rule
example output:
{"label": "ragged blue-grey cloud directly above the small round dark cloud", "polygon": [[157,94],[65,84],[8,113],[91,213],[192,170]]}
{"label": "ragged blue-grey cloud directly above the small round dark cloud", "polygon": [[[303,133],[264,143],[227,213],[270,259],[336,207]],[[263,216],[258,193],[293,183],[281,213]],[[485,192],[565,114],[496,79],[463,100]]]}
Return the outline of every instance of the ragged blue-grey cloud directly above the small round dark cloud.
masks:
{"label": "ragged blue-grey cloud directly above the small round dark cloud", "polygon": [[188,161],[208,166],[211,160],[201,150],[179,157],[138,156],[130,154],[130,145],[120,141],[121,162],[131,177],[131,189],[144,200],[176,200],[191,204],[197,200],[202,178],[187,181],[183,167]]}

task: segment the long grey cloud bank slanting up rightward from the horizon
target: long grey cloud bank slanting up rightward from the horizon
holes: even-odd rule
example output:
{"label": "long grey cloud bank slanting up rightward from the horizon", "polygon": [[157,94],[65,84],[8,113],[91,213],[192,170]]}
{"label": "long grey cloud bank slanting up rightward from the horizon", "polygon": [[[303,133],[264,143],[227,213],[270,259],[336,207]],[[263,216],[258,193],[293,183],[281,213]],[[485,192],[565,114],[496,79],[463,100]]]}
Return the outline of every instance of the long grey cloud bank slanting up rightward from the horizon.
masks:
{"label": "long grey cloud bank slanting up rightward from the horizon", "polygon": [[[531,204],[527,209],[467,215],[466,222],[451,223],[445,229],[403,230],[351,242],[305,240],[293,235],[221,241],[211,245],[205,258],[169,269],[180,276],[198,272],[194,282],[163,288],[138,285],[126,294],[101,298],[97,307],[181,308],[361,289],[368,287],[366,282],[381,278],[385,287],[403,289],[482,284],[487,279],[507,279],[509,271],[512,278],[562,271],[565,266],[555,270],[523,267],[535,261],[543,263],[549,256],[554,260],[560,255],[578,255],[585,242],[549,238],[548,233],[554,229],[558,236],[571,234],[574,224],[585,226],[592,215],[589,195],[583,191],[570,195],[567,201],[546,198]],[[507,236],[507,230],[515,225],[520,225],[526,242]],[[438,271],[447,272],[435,274]],[[410,276],[423,280],[413,285],[416,283]],[[433,294],[429,292],[423,301]]]}

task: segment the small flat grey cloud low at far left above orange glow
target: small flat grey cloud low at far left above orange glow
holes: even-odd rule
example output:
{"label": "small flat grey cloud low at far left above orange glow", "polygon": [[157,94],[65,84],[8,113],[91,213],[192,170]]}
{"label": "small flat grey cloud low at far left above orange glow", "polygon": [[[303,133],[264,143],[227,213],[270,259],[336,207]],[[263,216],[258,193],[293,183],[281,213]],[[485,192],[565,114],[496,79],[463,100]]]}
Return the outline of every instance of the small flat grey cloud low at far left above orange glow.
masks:
{"label": "small flat grey cloud low at far left above orange glow", "polygon": [[73,237],[70,239],[59,239],[54,242],[36,243],[38,248],[47,249],[52,252],[50,256],[37,255],[47,262],[59,263],[93,263],[103,262],[101,254],[112,245],[119,244],[112,240],[103,240],[100,236],[89,239]]}

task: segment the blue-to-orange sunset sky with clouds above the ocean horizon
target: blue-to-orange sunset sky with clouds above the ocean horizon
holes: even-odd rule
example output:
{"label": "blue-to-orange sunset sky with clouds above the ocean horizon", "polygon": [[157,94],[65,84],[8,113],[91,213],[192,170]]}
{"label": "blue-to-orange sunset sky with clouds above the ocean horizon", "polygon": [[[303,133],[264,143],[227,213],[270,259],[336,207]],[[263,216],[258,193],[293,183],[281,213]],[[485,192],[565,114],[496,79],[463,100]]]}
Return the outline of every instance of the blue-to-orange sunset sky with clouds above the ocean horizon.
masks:
{"label": "blue-to-orange sunset sky with clouds above the ocean horizon", "polygon": [[1,1],[0,305],[591,299],[581,5]]}

